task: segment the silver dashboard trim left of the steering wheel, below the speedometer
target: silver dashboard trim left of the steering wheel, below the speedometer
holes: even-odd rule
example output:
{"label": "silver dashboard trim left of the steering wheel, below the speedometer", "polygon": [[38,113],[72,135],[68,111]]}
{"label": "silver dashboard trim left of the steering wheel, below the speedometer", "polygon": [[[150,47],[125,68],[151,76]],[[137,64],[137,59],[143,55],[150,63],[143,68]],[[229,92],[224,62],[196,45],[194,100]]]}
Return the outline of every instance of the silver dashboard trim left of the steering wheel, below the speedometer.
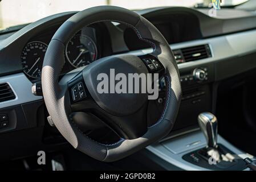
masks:
{"label": "silver dashboard trim left of the steering wheel, below the speedometer", "polygon": [[0,108],[24,104],[31,101],[41,100],[42,96],[34,96],[31,93],[32,83],[24,73],[0,77],[0,84],[8,83],[16,98],[14,100],[0,102]]}

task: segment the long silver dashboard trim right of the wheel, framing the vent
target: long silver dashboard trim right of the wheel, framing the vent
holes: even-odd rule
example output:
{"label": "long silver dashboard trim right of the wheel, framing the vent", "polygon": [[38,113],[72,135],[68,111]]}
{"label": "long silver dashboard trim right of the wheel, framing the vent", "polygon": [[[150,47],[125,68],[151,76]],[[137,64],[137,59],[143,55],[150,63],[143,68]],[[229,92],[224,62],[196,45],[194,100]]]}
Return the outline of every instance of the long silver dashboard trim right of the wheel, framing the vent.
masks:
{"label": "long silver dashboard trim right of the wheel, framing the vent", "polygon": [[[256,52],[256,30],[239,32],[236,34],[218,36],[216,38],[193,40],[189,42],[182,42],[171,44],[172,49],[181,49],[192,46],[199,46],[202,44],[209,44],[212,52],[212,57],[201,59],[197,61],[190,61],[188,63],[178,64],[178,68],[189,68],[205,63],[212,63],[216,61],[226,61],[225,59],[245,55],[246,53]],[[151,53],[152,48],[131,51],[133,55],[142,55]]]}

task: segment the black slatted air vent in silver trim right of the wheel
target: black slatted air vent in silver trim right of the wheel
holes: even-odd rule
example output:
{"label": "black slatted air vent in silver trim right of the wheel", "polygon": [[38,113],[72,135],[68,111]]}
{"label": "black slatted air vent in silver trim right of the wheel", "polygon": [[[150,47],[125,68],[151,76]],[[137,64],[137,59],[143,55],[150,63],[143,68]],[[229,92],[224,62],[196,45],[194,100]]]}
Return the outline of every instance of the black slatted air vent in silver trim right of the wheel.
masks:
{"label": "black slatted air vent in silver trim right of the wheel", "polygon": [[185,62],[196,61],[212,57],[210,47],[208,44],[194,47],[187,47],[181,49]]}

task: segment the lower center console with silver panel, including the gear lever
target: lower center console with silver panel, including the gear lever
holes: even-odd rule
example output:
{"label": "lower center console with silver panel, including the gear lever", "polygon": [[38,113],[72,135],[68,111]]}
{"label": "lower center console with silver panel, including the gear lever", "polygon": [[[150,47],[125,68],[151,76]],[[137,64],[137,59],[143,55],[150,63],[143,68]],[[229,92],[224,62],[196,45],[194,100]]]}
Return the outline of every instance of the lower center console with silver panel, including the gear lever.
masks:
{"label": "lower center console with silver panel, including the gear lever", "polygon": [[164,139],[147,149],[173,166],[168,170],[249,170],[246,160],[254,157],[218,135],[213,114],[201,113],[198,123],[201,131]]}

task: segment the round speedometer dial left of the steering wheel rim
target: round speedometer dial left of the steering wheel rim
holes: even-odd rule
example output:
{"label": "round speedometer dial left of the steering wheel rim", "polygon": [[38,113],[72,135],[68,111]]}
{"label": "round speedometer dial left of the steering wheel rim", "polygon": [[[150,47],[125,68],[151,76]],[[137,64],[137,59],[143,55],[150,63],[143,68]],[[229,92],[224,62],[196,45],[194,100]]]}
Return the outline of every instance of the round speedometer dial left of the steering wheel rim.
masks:
{"label": "round speedometer dial left of the steering wheel rim", "polygon": [[30,42],[23,49],[21,61],[24,72],[32,78],[40,78],[42,74],[43,59],[47,44],[39,41]]}

